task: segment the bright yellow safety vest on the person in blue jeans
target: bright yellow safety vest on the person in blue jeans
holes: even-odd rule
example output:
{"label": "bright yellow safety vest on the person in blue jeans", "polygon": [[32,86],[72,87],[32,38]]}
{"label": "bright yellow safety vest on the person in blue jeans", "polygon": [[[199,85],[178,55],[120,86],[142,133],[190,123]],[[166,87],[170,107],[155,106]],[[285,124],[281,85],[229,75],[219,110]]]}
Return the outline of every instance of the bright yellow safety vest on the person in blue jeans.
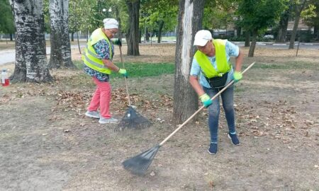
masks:
{"label": "bright yellow safety vest on the person in blue jeans", "polygon": [[209,61],[206,54],[197,50],[194,57],[196,58],[199,66],[201,66],[201,71],[203,75],[208,79],[211,79],[216,76],[223,76],[226,72],[230,71],[231,65],[227,61],[226,57],[226,40],[214,39],[213,44],[216,50],[216,63],[217,71]]}

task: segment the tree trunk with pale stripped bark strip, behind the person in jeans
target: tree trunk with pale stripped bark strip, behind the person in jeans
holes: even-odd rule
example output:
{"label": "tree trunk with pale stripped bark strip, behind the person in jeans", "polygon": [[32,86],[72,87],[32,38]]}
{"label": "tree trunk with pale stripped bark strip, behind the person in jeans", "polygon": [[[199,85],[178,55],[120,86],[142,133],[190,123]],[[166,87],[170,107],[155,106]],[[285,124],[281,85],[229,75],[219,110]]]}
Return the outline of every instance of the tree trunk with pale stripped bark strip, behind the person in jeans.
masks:
{"label": "tree trunk with pale stripped bark strip, behind the person in jeans", "polygon": [[205,0],[179,1],[179,24],[175,52],[174,122],[179,124],[198,109],[198,96],[189,84],[189,72],[194,56],[194,36],[201,29]]}

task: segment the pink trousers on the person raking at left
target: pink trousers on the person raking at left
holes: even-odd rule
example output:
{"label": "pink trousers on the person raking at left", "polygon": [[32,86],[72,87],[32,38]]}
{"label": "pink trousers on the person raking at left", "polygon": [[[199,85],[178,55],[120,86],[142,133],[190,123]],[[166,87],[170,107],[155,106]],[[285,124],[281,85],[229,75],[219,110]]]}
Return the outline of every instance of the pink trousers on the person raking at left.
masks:
{"label": "pink trousers on the person raking at left", "polygon": [[91,99],[91,103],[87,110],[96,111],[100,108],[100,114],[104,118],[111,118],[110,102],[111,102],[111,84],[108,82],[101,82],[95,77],[93,81],[96,84],[96,91]]}

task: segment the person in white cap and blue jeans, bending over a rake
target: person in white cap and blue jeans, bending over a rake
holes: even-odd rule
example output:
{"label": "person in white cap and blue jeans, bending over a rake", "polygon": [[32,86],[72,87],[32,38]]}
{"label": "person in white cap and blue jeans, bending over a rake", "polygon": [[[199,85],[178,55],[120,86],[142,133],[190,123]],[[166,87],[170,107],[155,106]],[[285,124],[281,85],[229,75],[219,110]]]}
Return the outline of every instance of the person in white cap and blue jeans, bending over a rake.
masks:
{"label": "person in white cap and blue jeans, bending over a rake", "polygon": [[[217,154],[219,98],[211,100],[230,81],[242,79],[240,73],[243,55],[237,45],[228,40],[213,39],[208,30],[199,30],[195,35],[194,46],[197,51],[191,64],[189,83],[194,88],[203,105],[208,108],[208,126],[211,132],[209,154]],[[230,64],[230,57],[235,57],[235,71]],[[198,81],[199,78],[199,81]],[[240,145],[235,129],[234,86],[220,94],[228,124],[228,137],[232,144]]]}

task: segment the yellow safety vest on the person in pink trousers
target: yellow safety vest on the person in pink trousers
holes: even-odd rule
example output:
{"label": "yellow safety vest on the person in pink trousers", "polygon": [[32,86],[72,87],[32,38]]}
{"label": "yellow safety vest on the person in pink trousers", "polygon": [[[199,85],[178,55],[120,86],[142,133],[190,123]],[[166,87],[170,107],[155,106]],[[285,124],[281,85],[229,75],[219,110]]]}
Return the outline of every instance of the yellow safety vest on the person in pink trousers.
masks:
{"label": "yellow safety vest on the person in pink trousers", "polygon": [[99,57],[98,54],[96,54],[93,45],[96,44],[96,42],[99,42],[99,40],[105,39],[106,42],[108,42],[108,51],[110,54],[111,59],[113,58],[112,55],[112,45],[110,40],[108,40],[108,37],[103,33],[102,28],[98,28],[94,30],[94,32],[91,34],[91,37],[89,38],[89,41],[87,42],[84,57],[82,57],[84,64],[86,66],[89,66],[91,69],[94,69],[96,71],[99,71],[104,74],[111,74],[111,69],[108,69],[102,62],[101,57]]}

